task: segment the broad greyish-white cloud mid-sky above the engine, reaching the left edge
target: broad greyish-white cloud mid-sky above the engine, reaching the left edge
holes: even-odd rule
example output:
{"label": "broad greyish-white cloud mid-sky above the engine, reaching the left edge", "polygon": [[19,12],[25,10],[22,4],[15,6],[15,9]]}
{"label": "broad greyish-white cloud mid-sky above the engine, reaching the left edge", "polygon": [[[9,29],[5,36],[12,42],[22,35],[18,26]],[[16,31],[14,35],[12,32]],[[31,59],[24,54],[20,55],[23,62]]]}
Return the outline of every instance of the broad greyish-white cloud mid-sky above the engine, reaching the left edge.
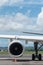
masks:
{"label": "broad greyish-white cloud mid-sky above the engine, reaching the left edge", "polygon": [[18,12],[15,16],[0,17],[0,30],[28,30],[32,29],[33,23],[33,18]]}

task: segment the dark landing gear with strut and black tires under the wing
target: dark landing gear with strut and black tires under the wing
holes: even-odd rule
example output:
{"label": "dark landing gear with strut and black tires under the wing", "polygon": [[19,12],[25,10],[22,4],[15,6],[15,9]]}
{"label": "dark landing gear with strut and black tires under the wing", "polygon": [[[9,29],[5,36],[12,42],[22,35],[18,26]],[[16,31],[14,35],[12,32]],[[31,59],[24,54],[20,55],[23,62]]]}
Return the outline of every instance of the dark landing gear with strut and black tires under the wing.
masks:
{"label": "dark landing gear with strut and black tires under the wing", "polygon": [[[43,45],[41,45],[39,47],[39,49],[42,47]],[[35,60],[35,58],[38,58],[38,60],[42,60],[42,56],[41,54],[38,54],[38,42],[34,42],[34,48],[35,48],[35,54],[32,54],[32,60]]]}

